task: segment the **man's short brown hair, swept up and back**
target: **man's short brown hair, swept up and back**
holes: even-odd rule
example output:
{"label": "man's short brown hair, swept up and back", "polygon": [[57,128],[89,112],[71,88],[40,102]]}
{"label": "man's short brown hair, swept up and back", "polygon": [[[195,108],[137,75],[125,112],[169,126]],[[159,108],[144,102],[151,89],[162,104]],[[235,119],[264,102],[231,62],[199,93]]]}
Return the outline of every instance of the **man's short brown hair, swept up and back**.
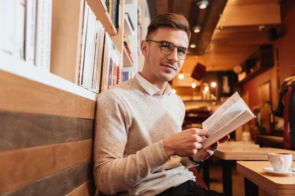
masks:
{"label": "man's short brown hair, swept up and back", "polygon": [[168,12],[156,15],[148,25],[147,40],[150,38],[151,34],[160,27],[170,27],[178,30],[183,30],[187,34],[188,41],[190,40],[191,31],[189,24],[184,16]]}

